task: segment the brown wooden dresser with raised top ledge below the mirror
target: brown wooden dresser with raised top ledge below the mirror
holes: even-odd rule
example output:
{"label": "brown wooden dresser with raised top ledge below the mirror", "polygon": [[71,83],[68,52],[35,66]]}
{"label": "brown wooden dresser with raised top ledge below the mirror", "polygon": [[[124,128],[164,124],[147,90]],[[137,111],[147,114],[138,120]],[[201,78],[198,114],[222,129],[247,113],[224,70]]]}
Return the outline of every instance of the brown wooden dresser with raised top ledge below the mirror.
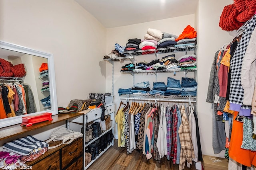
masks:
{"label": "brown wooden dresser with raised top ledge below the mirror", "polygon": [[[19,124],[0,128],[0,140],[27,133],[60,121],[66,121],[66,124],[68,124],[68,119],[78,116],[82,116],[84,119],[83,113],[59,114],[52,116],[52,121],[37,123],[31,127],[22,127]],[[62,141],[50,142],[49,145],[55,146],[61,142]],[[25,164],[27,164],[27,166],[32,166],[33,170],[83,170],[83,144],[84,138],[80,137],[70,144],[64,144],[54,149],[50,149],[37,159],[26,162]]]}

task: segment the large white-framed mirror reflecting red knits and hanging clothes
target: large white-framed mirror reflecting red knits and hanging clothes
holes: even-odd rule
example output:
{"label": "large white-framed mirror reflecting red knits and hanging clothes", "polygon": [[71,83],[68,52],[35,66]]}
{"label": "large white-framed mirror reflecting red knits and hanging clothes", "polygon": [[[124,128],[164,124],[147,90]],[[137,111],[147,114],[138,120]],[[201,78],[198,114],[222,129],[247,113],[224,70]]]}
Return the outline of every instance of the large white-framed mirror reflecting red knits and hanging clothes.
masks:
{"label": "large white-framed mirror reflecting red knits and hanging clothes", "polygon": [[54,72],[53,55],[0,41],[0,107],[6,114],[0,109],[0,128],[22,123],[24,116],[58,114]]}

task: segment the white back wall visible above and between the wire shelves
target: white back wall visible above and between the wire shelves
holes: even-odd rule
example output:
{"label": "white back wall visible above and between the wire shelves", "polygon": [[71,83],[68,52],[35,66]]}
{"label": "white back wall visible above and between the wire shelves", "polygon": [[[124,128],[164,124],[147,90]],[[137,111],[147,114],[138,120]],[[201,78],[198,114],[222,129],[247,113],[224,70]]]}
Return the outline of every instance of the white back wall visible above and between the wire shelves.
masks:
{"label": "white back wall visible above and between the wire shelves", "polygon": [[[114,27],[107,29],[107,47],[106,53],[110,53],[114,49],[115,43],[120,44],[121,46],[125,46],[128,42],[128,39],[131,38],[139,38],[144,39],[144,35],[147,33],[148,28],[159,29],[162,32],[172,33],[174,35],[180,35],[183,29],[187,25],[191,25],[194,27],[194,14],[186,15],[176,18],[168,18],[164,20],[158,21],[151,21],[145,23],[139,23],[134,25],[122,26],[122,27]],[[183,53],[184,55],[185,53]],[[177,58],[179,55],[175,53]],[[166,54],[158,55],[158,59],[166,56]],[[141,57],[136,57],[138,61],[147,61],[150,62],[151,60],[155,59],[155,55],[146,55]],[[131,63],[130,61],[124,61],[124,63],[115,62],[114,63],[114,103],[116,104],[116,111],[119,107],[120,100],[118,96],[118,89],[119,88],[131,88],[133,87],[133,77],[130,74],[120,73],[121,67],[124,64]],[[107,92],[112,91],[112,65],[110,63],[107,64],[106,70],[106,87]],[[184,72],[177,72],[176,76],[173,73],[158,73],[157,81],[158,82],[165,82],[167,83],[167,77],[174,77],[176,79],[181,80],[181,77],[184,76]],[[194,77],[193,72],[188,72],[188,77]],[[142,81],[150,81],[150,88],[153,88],[153,82],[155,82],[156,78],[155,75],[150,74],[136,74],[135,75],[135,83],[142,82]],[[123,101],[125,102],[125,101]],[[115,128],[114,136],[117,138],[117,128]]]}

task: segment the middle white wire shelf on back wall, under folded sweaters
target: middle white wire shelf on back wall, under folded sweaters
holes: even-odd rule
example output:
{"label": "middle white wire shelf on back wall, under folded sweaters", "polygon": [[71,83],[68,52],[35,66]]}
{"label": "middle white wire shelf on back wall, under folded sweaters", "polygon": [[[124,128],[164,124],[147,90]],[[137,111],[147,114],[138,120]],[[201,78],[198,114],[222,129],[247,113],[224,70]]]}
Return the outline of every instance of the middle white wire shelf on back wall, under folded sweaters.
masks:
{"label": "middle white wire shelf on back wall, under folded sweaters", "polygon": [[197,68],[183,68],[183,69],[165,69],[165,70],[134,70],[134,71],[120,71],[122,73],[157,73],[157,72],[193,72]]}

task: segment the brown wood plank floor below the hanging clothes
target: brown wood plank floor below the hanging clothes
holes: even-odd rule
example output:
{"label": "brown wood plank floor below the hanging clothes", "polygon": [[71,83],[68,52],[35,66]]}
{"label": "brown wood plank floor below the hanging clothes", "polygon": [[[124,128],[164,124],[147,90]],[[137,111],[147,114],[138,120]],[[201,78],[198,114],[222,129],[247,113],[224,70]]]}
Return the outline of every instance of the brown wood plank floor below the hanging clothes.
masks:
{"label": "brown wood plank floor below the hanging clothes", "polygon": [[[126,148],[117,147],[117,140],[114,146],[110,147],[102,156],[96,160],[88,170],[178,170],[179,165],[173,165],[164,156],[159,163],[156,160],[147,160],[141,152],[134,150],[131,154],[126,154]],[[196,170],[194,164],[184,170]]]}

